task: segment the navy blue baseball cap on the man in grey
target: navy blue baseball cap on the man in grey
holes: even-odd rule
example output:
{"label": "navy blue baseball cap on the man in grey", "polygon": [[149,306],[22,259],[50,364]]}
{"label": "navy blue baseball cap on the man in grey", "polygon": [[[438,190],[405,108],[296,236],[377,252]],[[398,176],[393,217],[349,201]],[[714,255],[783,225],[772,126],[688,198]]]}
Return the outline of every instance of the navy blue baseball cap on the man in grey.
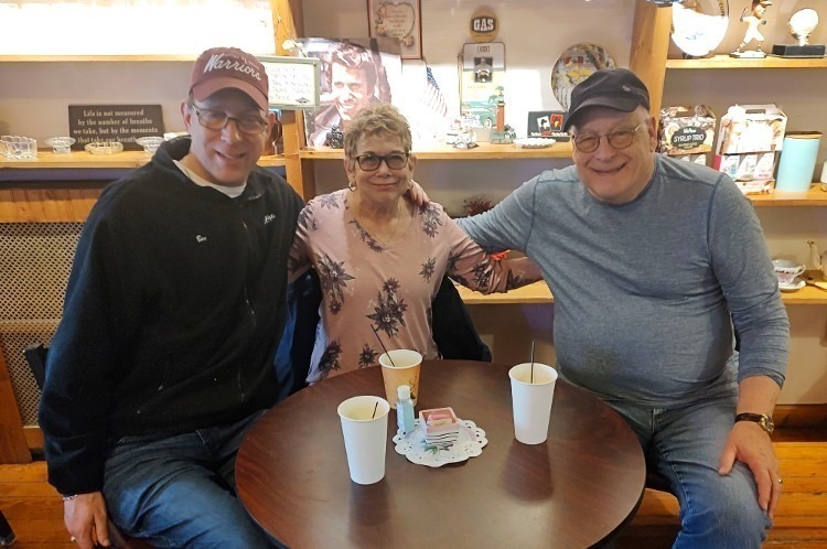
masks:
{"label": "navy blue baseball cap on the man in grey", "polygon": [[649,92],[636,74],[629,68],[601,68],[571,90],[569,116],[562,129],[568,131],[574,118],[589,107],[632,112],[641,105],[648,110]]}

